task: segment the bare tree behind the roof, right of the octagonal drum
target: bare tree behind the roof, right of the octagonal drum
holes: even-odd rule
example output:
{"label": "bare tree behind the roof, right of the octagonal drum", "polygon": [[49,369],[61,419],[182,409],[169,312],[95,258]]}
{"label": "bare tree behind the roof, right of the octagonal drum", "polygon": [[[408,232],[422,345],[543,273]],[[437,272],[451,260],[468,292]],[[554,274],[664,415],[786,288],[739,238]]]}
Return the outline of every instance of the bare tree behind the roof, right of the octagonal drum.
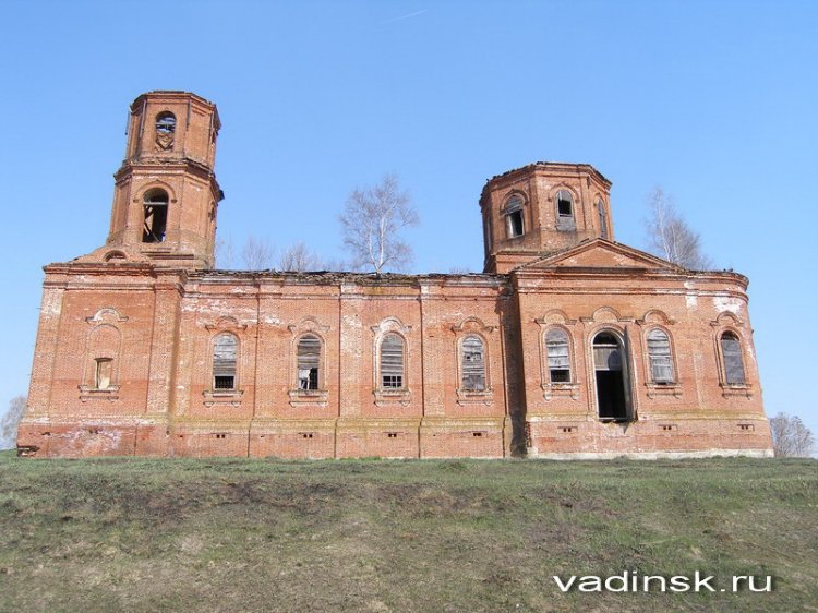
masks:
{"label": "bare tree behind the roof, right of the octagonal drum", "polygon": [[649,251],[690,271],[705,271],[712,266],[710,259],[701,252],[698,232],[693,231],[684,220],[672,196],[657,187],[648,196],[648,204]]}

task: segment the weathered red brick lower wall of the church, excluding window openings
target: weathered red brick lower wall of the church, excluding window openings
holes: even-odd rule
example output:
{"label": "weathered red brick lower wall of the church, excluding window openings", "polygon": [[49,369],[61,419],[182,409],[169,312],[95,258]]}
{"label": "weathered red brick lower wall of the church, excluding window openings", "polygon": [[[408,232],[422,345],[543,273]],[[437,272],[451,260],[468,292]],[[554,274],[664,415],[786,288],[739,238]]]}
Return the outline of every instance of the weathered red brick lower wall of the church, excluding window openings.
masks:
{"label": "weathered red brick lower wall of the church, excluding window openings", "polygon": [[[39,455],[503,457],[512,420],[529,453],[769,449],[744,280],[737,275],[575,278],[183,273],[143,265],[48,269],[22,446]],[[568,330],[573,384],[550,386],[544,334]],[[89,338],[119,330],[112,389],[93,389]],[[676,384],[651,385],[646,334],[666,330]],[[638,420],[597,419],[591,340],[629,340]],[[748,385],[721,380],[718,335],[743,340]],[[377,339],[406,339],[406,393],[377,394]],[[213,339],[239,339],[237,390],[213,389]],[[300,395],[296,341],[322,341],[321,389]],[[478,335],[488,389],[460,387]],[[666,428],[665,428],[666,426]],[[45,434],[47,433],[47,435]],[[517,432],[521,436],[521,432]]]}

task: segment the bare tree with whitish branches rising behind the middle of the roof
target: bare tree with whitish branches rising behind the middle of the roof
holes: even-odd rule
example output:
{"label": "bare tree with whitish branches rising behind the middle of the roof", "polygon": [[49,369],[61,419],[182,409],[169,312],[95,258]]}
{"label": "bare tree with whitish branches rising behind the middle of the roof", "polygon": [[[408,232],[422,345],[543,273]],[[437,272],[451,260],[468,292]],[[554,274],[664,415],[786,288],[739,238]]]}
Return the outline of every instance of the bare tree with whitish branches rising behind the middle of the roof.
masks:
{"label": "bare tree with whitish branches rising behind the middle of the roof", "polygon": [[418,225],[418,212],[394,175],[373,188],[352,190],[339,219],[352,267],[380,274],[411,262],[412,250],[400,240],[400,230]]}

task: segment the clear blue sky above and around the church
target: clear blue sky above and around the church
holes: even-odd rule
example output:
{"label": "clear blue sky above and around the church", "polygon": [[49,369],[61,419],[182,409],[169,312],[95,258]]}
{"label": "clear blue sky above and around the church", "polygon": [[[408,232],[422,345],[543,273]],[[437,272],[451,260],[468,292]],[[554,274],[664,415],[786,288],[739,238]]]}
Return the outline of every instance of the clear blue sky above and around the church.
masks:
{"label": "clear blue sky above and around the church", "polygon": [[818,434],[818,3],[5,0],[0,410],[27,390],[41,266],[105,241],[129,104],[222,119],[219,233],[340,257],[351,188],[396,172],[416,272],[479,271],[485,180],[536,160],[613,181],[616,239],[675,196],[750,278],[765,401]]}

